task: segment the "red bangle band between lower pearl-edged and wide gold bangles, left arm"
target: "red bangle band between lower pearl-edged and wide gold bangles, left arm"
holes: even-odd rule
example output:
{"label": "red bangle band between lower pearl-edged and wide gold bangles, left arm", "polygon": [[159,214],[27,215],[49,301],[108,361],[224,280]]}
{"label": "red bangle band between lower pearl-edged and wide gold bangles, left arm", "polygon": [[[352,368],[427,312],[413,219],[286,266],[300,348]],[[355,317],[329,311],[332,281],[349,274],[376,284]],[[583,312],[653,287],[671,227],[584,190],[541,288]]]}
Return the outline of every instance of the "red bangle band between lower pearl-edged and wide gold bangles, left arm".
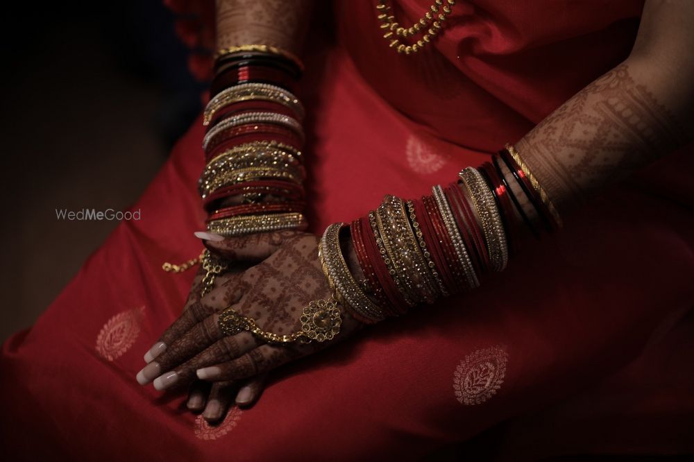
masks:
{"label": "red bangle band between lower pearl-edged and wide gold bangles, left arm", "polygon": [[205,162],[217,157],[229,148],[254,141],[273,141],[286,144],[299,151],[301,139],[291,130],[265,123],[248,123],[242,126],[222,130],[216,135],[205,150]]}

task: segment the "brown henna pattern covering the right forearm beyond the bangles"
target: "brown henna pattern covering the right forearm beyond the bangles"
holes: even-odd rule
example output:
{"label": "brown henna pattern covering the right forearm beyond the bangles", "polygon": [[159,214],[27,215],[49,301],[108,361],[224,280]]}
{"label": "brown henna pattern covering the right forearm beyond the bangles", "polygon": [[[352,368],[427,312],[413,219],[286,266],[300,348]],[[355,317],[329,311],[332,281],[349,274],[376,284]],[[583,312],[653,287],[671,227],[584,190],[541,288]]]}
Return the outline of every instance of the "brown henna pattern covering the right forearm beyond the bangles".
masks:
{"label": "brown henna pattern covering the right forearm beyond the bangles", "polygon": [[518,151],[561,208],[682,144],[675,118],[622,64],[550,114]]}

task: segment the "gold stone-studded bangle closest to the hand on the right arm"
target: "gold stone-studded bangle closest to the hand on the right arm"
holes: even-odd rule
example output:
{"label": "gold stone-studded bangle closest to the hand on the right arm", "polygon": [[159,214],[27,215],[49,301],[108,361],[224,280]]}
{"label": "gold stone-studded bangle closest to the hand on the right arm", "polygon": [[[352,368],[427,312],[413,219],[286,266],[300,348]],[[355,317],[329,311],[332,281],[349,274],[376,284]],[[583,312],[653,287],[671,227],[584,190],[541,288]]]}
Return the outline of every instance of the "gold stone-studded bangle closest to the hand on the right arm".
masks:
{"label": "gold stone-studded bangle closest to the hand on the right arm", "polygon": [[376,306],[359,284],[352,277],[347,262],[340,248],[340,230],[344,223],[333,223],[328,226],[321,237],[321,257],[328,281],[335,288],[336,298],[344,302],[347,309],[363,323],[376,323],[385,318],[382,310]]}

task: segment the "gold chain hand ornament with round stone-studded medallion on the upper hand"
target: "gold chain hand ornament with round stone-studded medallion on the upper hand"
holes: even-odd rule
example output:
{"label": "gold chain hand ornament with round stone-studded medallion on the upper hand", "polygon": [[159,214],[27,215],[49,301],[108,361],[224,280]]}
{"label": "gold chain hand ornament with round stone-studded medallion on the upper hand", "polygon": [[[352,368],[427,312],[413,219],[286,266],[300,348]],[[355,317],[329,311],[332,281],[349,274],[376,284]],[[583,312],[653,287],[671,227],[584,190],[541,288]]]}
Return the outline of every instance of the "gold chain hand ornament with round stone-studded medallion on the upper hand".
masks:
{"label": "gold chain hand ornament with round stone-studded medallion on the upper hand", "polygon": [[231,307],[219,315],[219,329],[225,335],[236,335],[247,331],[268,343],[291,343],[301,341],[324,342],[332,340],[340,332],[342,324],[341,311],[332,296],[328,300],[313,300],[301,313],[301,330],[289,335],[279,335],[262,330],[255,319],[238,313]]}

